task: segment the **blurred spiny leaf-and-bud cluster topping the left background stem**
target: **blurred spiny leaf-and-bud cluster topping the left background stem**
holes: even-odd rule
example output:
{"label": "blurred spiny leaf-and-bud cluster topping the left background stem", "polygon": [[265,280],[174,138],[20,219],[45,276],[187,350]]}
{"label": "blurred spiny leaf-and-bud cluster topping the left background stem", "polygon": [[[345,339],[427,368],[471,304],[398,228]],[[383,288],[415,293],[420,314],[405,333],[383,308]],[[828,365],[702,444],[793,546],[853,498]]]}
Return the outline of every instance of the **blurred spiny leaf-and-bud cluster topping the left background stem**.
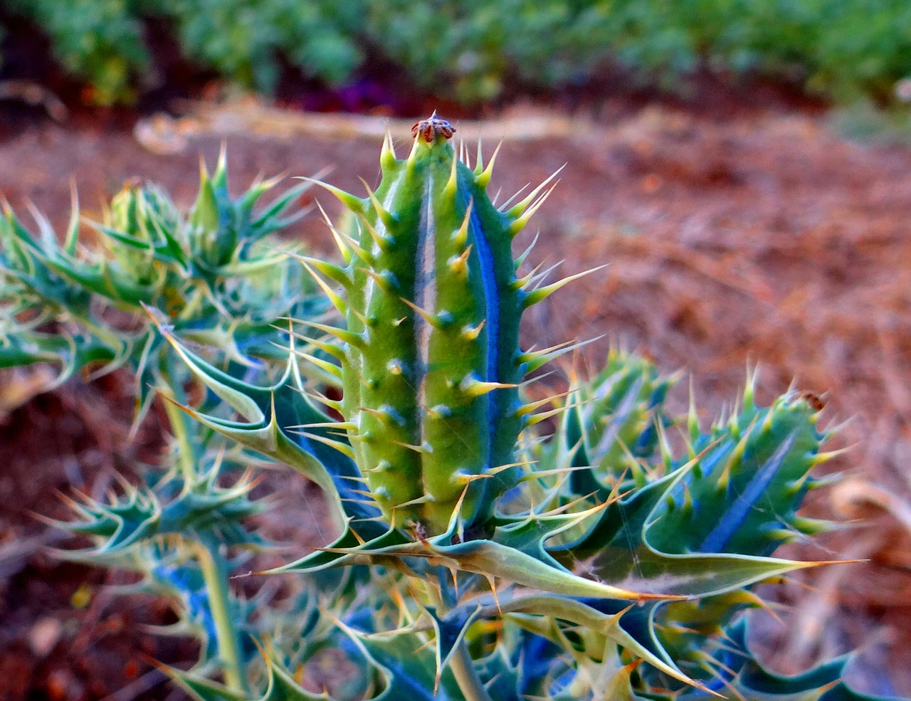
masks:
{"label": "blurred spiny leaf-and-bud cluster topping the left background stem", "polygon": [[137,378],[141,418],[152,388],[167,384],[181,397],[186,375],[144,309],[155,310],[179,338],[218,348],[227,361],[250,366],[275,357],[275,322],[326,306],[299,266],[263,241],[306,213],[295,208],[306,183],[257,209],[277,182],[259,180],[232,198],[222,150],[212,175],[200,165],[189,211],[155,184],[131,181],[102,222],[88,222],[94,240],[80,236],[75,190],[62,242],[35,208],[37,237],[4,203],[0,368],[54,363],[60,384],[78,371],[97,377],[126,366]]}

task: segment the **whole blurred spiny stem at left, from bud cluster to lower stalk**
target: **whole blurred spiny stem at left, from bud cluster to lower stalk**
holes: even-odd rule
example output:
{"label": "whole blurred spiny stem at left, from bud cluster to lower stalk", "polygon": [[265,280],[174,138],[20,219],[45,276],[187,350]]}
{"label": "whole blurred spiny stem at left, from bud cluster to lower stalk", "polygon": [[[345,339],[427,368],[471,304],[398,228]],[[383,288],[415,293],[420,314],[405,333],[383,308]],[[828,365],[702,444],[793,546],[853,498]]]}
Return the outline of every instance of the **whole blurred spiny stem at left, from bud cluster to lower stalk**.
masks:
{"label": "whole blurred spiny stem at left, from bud cluster to lower stalk", "polygon": [[[201,166],[199,194],[189,210],[153,183],[130,181],[101,222],[87,222],[96,237],[80,227],[75,191],[62,237],[35,208],[33,236],[4,203],[0,371],[55,366],[56,380],[45,390],[80,372],[97,378],[128,371],[136,378],[134,428],[154,390],[186,401],[191,381],[156,323],[216,352],[230,371],[251,378],[267,373],[284,357],[285,342],[274,325],[289,315],[319,317],[328,308],[274,239],[305,214],[297,200],[310,186],[289,188],[258,207],[277,184],[258,180],[240,197],[231,196],[222,149],[211,175]],[[212,411],[219,403],[202,399]],[[141,483],[123,481],[109,502],[85,495],[70,501],[79,521],[67,527],[98,546],[66,556],[138,573],[139,583],[128,591],[171,597],[183,617],[169,632],[197,635],[202,664],[220,656],[241,664],[242,649],[255,652],[245,626],[258,600],[242,602],[230,592],[227,575],[243,558],[226,557],[224,548],[242,554],[262,546],[243,524],[261,511],[248,498],[255,483],[249,468],[257,461],[200,431],[175,404],[165,408],[173,439],[163,464],[136,465]]]}

